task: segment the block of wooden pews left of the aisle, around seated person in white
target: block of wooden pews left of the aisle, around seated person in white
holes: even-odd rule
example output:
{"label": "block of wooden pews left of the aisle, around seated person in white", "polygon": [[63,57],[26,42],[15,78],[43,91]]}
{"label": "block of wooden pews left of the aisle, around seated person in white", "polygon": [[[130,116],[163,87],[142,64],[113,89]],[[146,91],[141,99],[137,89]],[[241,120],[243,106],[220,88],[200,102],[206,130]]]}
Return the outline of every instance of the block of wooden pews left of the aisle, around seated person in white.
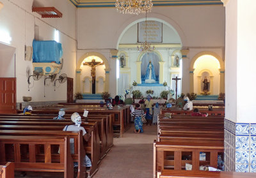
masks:
{"label": "block of wooden pews left of the aisle, around seated person in white", "polygon": [[[95,174],[113,145],[111,115],[90,114],[82,122],[86,131],[93,128],[88,142],[83,141],[81,132],[62,131],[71,123],[70,114],[65,115],[67,120],[53,120],[55,116],[0,115],[0,152],[4,155],[0,163],[14,162],[15,170],[20,171],[64,172],[64,177],[73,177],[73,162],[77,162],[77,177],[86,177],[83,160],[87,154],[92,161],[88,174]],[[74,152],[70,152],[70,138],[74,139]]]}

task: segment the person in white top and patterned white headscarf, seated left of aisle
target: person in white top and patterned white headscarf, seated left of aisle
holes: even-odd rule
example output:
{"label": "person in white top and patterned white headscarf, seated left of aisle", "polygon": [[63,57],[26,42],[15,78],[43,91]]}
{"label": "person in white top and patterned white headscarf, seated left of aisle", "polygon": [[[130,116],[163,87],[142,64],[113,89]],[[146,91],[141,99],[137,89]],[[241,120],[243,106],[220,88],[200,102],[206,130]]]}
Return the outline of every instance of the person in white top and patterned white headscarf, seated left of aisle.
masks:
{"label": "person in white top and patterned white headscarf, seated left of aisle", "polygon": [[[88,142],[89,138],[91,137],[93,128],[90,128],[89,133],[86,133],[84,128],[81,127],[81,123],[82,123],[81,116],[77,112],[74,112],[71,115],[71,121],[73,122],[73,124],[65,126],[63,128],[63,131],[80,131],[80,130],[82,130],[83,138],[86,142]],[[72,138],[70,138],[70,152],[71,152],[71,154],[74,153],[74,139],[72,139]],[[78,166],[78,164],[74,163],[74,167],[77,167],[77,166]],[[92,162],[87,155],[85,155],[85,158],[84,158],[84,166],[92,167]]]}

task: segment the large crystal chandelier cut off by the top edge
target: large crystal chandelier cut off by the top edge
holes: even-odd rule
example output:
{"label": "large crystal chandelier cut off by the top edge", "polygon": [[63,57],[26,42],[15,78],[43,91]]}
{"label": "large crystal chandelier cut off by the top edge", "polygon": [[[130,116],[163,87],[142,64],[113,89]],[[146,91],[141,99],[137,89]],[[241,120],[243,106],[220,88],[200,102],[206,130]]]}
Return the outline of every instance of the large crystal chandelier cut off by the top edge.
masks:
{"label": "large crystal chandelier cut off by the top edge", "polygon": [[153,3],[152,0],[116,0],[115,6],[120,13],[139,15],[140,13],[150,12]]}

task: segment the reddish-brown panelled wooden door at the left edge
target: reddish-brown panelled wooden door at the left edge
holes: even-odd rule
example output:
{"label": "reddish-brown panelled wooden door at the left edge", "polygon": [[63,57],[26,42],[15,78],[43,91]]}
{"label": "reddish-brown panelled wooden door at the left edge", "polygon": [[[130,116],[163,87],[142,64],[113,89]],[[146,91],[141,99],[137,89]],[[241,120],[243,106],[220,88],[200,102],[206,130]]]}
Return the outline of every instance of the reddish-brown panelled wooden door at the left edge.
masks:
{"label": "reddish-brown panelled wooden door at the left edge", "polygon": [[16,78],[0,78],[0,113],[16,113]]}

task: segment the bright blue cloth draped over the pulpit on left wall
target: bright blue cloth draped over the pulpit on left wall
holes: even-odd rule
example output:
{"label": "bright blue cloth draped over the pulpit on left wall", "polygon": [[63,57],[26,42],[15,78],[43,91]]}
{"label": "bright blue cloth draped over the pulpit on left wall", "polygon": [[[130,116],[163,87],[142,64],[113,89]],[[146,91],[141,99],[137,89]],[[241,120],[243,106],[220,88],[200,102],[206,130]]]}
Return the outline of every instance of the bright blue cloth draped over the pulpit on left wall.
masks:
{"label": "bright blue cloth draped over the pulpit on left wall", "polygon": [[33,63],[60,64],[63,51],[61,43],[56,41],[36,41],[33,40]]}

